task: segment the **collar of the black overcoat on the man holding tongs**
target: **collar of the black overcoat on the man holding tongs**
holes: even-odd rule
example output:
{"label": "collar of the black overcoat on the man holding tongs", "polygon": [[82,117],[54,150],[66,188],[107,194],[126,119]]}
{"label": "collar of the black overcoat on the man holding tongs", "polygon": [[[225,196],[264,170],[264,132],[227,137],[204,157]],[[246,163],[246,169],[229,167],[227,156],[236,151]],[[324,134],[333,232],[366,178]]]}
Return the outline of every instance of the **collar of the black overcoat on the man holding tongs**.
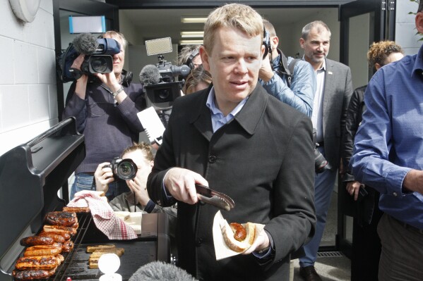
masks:
{"label": "collar of the black overcoat on the man holding tongs", "polygon": [[[190,118],[190,123],[196,126],[197,130],[201,132],[207,139],[211,139],[213,135],[213,127],[211,125],[210,109],[205,105],[208,93],[213,85],[208,89],[204,89],[198,93],[198,106]],[[257,83],[256,88],[250,94],[244,107],[235,115],[231,122],[238,122],[239,125],[250,135],[254,135],[261,117],[264,113],[268,103],[268,93]]]}

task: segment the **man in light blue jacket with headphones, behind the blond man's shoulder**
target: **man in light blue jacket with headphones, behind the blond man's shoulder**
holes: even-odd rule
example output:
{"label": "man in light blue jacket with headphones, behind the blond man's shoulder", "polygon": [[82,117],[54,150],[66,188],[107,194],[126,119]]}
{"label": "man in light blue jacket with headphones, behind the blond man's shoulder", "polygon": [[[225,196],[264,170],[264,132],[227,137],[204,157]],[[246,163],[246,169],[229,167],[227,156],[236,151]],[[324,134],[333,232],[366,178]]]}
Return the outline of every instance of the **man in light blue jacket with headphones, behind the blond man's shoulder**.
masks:
{"label": "man in light blue jacket with headphones, behind the blond man's shoulder", "polygon": [[[294,65],[293,73],[290,73],[287,68],[294,58],[287,58],[278,49],[279,38],[276,36],[275,27],[268,20],[263,20],[263,24],[269,32],[270,50],[258,73],[261,85],[276,99],[311,117],[316,92],[316,74],[313,67],[310,63],[299,60]],[[292,80],[288,81],[291,78]]]}

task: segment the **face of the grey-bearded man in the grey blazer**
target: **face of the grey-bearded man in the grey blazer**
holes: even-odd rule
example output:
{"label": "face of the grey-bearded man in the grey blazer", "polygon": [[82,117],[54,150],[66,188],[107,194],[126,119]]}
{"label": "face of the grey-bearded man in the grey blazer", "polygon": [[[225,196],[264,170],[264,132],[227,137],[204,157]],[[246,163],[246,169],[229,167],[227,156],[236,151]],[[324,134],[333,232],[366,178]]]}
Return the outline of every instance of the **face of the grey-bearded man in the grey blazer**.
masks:
{"label": "face of the grey-bearded man in the grey blazer", "polygon": [[320,66],[323,60],[328,56],[330,46],[330,36],[328,30],[321,28],[319,33],[317,28],[310,30],[309,36],[306,40],[299,39],[299,44],[304,49],[304,56],[306,61],[311,65]]}

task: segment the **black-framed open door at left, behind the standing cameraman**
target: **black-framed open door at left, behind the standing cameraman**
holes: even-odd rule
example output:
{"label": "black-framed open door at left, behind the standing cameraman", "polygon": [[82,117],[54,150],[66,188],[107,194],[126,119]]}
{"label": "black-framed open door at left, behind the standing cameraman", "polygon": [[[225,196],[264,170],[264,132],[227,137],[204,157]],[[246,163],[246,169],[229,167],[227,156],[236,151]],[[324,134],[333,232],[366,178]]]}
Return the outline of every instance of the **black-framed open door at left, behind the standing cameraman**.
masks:
{"label": "black-framed open door at left, behind the standing cameraman", "polygon": [[[60,56],[61,51],[66,49],[69,42],[76,35],[69,33],[69,15],[105,15],[106,30],[119,30],[119,8],[118,6],[105,4],[100,1],[91,0],[54,0],[54,39],[56,57]],[[68,84],[68,85],[67,85]],[[64,111],[64,100],[71,82],[62,83],[59,77],[56,77],[57,85],[57,111],[59,121]]]}

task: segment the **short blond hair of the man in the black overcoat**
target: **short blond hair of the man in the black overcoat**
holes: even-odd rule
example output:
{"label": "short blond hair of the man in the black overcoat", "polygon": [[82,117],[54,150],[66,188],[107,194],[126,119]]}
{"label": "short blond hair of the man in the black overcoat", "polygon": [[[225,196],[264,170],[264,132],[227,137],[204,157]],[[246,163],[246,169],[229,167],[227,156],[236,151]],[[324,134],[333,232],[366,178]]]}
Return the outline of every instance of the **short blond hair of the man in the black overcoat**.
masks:
{"label": "short blond hair of the man in the black overcoat", "polygon": [[254,8],[244,4],[226,4],[211,12],[205,22],[203,45],[209,54],[213,50],[215,32],[221,27],[237,28],[249,37],[261,35],[263,40],[263,18]]}

